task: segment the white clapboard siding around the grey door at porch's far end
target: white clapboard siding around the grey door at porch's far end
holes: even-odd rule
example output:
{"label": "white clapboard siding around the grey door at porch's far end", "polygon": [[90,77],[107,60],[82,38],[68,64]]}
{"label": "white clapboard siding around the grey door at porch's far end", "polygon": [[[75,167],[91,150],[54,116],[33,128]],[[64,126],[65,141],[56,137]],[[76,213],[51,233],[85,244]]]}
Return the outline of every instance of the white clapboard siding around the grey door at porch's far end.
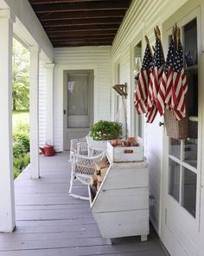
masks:
{"label": "white clapboard siding around the grey door at porch's far end", "polygon": [[63,150],[63,70],[94,70],[95,121],[111,120],[111,47],[54,49],[54,147]]}

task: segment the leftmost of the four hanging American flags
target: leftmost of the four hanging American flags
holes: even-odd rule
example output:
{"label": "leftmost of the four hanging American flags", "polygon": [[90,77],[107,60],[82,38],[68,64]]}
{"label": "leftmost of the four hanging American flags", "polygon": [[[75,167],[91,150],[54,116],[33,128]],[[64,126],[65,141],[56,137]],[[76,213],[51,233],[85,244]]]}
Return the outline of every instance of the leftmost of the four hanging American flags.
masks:
{"label": "leftmost of the four hanging American flags", "polygon": [[147,112],[147,89],[150,82],[152,59],[150,44],[147,43],[143,56],[142,68],[138,78],[138,87],[135,92],[135,107],[138,115]]}

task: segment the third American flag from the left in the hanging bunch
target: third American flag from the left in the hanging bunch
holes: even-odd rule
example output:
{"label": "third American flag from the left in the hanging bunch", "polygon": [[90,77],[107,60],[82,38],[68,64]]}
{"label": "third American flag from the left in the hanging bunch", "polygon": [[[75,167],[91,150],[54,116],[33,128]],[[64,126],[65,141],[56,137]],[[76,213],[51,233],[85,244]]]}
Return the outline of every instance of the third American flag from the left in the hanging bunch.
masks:
{"label": "third American flag from the left in the hanging bunch", "polygon": [[157,95],[156,107],[160,115],[164,114],[165,108],[170,108],[171,104],[171,89],[173,82],[173,64],[175,56],[175,43],[173,38],[169,43],[169,50],[166,58],[166,62],[163,68],[163,76],[160,84],[160,88]]}

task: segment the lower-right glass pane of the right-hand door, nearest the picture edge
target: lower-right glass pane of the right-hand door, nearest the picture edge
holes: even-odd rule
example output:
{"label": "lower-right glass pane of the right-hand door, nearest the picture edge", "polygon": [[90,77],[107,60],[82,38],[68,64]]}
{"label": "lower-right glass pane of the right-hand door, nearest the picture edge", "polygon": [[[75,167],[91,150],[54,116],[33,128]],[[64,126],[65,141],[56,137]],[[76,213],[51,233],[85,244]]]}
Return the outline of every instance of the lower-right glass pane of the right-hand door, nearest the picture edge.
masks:
{"label": "lower-right glass pane of the right-hand door, nearest the picture edge", "polygon": [[197,175],[183,168],[182,206],[195,217]]}

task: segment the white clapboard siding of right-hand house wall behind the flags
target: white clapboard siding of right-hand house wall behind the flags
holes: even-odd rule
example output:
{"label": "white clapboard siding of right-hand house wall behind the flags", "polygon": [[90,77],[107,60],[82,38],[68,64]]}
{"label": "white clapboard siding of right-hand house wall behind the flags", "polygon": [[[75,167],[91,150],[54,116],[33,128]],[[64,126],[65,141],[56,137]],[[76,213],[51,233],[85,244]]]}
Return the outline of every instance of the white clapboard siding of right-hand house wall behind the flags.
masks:
{"label": "white clapboard siding of right-hand house wall behind the flags", "polygon": [[[118,30],[118,34],[112,45],[112,67],[116,63],[120,64],[120,82],[128,82],[127,97],[127,127],[129,135],[133,134],[131,128],[133,124],[131,115],[135,115],[134,108],[131,108],[133,101],[130,94],[134,88],[133,70],[134,43],[143,40],[144,35],[150,39],[150,44],[154,44],[155,36],[153,28],[158,25],[162,30],[163,22],[171,16],[175,10],[178,10],[186,0],[170,1],[132,1],[130,10],[127,11],[124,21]],[[168,6],[168,8],[167,8]],[[143,40],[143,50],[145,42]],[[112,80],[115,81],[116,70],[112,74]],[[132,110],[131,110],[132,109]],[[132,113],[131,113],[132,111]],[[161,201],[161,176],[162,176],[162,153],[163,153],[163,128],[158,126],[160,117],[156,116],[154,124],[146,125],[144,128],[144,148],[145,156],[148,161],[150,173],[150,194],[154,197],[154,206],[150,209],[150,219],[152,220],[156,231],[159,232],[160,225],[160,201]]]}

